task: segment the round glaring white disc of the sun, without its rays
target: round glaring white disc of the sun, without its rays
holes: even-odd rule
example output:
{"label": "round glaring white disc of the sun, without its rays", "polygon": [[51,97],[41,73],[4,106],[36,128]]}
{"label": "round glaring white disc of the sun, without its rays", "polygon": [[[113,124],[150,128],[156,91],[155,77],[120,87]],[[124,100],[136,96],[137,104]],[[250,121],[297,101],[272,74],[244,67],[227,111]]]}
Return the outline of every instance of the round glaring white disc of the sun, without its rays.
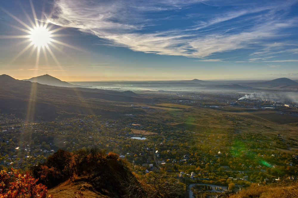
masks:
{"label": "round glaring white disc of the sun, without its rays", "polygon": [[49,44],[51,41],[51,34],[46,29],[46,27],[35,27],[30,32],[30,40],[32,41],[32,44],[34,44],[37,47],[44,47]]}

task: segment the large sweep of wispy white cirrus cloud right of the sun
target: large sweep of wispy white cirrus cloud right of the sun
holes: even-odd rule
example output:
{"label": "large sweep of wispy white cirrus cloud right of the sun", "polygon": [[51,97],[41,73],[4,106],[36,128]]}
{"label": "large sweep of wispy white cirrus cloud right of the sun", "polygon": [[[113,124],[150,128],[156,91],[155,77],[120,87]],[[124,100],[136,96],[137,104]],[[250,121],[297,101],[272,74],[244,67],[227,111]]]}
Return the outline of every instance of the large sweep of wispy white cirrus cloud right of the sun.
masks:
{"label": "large sweep of wispy white cirrus cloud right of the sun", "polygon": [[241,53],[245,60],[240,61],[274,62],[273,57],[293,55],[297,49],[293,44],[297,44],[298,30],[298,16],[291,14],[294,4],[296,0],[283,4],[56,0],[56,11],[48,20],[96,35],[105,40],[103,45],[134,51],[202,61],[233,60]]}

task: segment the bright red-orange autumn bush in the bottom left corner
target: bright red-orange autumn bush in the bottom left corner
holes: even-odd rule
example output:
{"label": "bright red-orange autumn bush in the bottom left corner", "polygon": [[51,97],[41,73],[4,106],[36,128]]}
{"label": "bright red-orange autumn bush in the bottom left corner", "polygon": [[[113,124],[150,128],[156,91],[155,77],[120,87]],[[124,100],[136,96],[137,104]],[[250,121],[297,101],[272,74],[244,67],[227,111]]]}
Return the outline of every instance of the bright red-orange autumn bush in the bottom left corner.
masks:
{"label": "bright red-orange autumn bush in the bottom left corner", "polygon": [[[45,198],[47,187],[37,184],[38,179],[31,176],[30,172],[20,173],[11,168],[10,173],[5,170],[0,172],[0,198],[29,197]],[[52,196],[49,195],[49,198]]]}

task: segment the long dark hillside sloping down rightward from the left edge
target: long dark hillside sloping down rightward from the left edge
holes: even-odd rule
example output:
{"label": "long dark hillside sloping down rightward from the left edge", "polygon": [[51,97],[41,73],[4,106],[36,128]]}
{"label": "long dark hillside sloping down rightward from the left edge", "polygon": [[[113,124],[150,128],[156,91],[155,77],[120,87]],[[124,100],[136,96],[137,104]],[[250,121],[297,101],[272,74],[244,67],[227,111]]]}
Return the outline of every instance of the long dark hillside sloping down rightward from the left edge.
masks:
{"label": "long dark hillside sloping down rightward from the left edge", "polygon": [[[49,121],[57,118],[74,118],[82,115],[116,115],[142,110],[127,109],[121,102],[150,102],[142,96],[102,89],[70,88],[16,80],[0,75],[1,112],[14,113],[29,121]],[[133,95],[133,93],[130,93]],[[114,101],[114,102],[111,102]],[[28,114],[28,107],[30,113]]]}

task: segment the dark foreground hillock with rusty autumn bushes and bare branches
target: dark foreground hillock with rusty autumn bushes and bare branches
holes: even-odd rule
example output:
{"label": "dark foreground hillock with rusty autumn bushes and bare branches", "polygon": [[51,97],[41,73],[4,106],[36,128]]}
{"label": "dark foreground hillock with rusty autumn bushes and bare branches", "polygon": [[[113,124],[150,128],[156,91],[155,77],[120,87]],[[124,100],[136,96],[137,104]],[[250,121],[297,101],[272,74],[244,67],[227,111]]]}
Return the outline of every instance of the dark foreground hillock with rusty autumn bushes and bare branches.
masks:
{"label": "dark foreground hillock with rusty autumn bushes and bare branches", "polygon": [[31,168],[39,182],[52,188],[53,197],[180,197],[180,185],[167,175],[148,173],[138,179],[119,155],[93,149],[74,152],[58,150],[43,164]]}

